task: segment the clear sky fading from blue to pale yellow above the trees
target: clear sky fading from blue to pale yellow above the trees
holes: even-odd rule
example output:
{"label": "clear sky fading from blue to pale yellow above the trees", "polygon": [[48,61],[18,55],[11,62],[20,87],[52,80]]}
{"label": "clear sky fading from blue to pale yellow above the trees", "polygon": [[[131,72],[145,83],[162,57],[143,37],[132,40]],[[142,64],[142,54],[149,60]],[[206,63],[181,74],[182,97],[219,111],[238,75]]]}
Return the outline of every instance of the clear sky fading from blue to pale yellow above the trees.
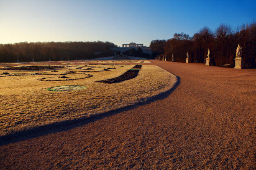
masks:
{"label": "clear sky fading from blue to pale yellow above the trees", "polygon": [[0,43],[143,43],[256,20],[256,0],[0,0]]}

